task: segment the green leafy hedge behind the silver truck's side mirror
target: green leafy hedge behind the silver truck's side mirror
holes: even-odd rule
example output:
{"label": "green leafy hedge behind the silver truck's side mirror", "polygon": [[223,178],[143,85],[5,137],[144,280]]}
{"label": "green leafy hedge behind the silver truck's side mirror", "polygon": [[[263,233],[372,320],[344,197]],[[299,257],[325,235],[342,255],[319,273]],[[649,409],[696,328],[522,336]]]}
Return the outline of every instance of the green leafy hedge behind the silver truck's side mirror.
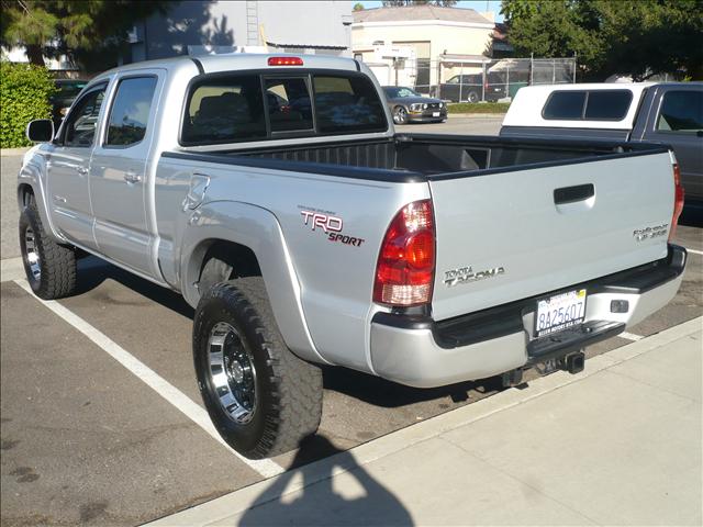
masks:
{"label": "green leafy hedge behind the silver truck's side mirror", "polygon": [[51,119],[48,98],[56,91],[48,70],[0,63],[0,148],[30,146],[24,130],[33,119]]}

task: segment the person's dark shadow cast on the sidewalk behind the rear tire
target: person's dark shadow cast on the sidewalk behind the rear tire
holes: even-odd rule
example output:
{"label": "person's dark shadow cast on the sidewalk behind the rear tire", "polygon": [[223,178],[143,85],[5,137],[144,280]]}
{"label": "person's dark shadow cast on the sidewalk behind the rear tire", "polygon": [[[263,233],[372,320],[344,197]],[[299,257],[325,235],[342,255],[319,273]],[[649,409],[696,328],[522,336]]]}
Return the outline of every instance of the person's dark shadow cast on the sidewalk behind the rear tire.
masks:
{"label": "person's dark shadow cast on the sidewalk behind the rear tire", "polygon": [[[316,457],[320,451],[330,452],[330,457],[302,464],[302,460]],[[414,525],[412,516],[392,492],[358,466],[352,452],[337,449],[324,436],[303,439],[293,467],[276,478],[256,497],[255,505],[238,519],[233,519],[232,525]],[[339,469],[347,472],[333,484],[333,476]],[[289,490],[291,484],[295,487]]]}

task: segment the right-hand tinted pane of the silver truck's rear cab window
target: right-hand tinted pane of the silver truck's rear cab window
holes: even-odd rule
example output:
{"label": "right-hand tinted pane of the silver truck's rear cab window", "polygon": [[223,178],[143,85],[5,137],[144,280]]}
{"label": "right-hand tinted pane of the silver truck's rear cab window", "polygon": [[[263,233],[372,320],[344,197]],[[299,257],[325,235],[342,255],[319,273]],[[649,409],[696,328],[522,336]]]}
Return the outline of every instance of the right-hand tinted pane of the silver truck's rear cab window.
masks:
{"label": "right-hand tinted pane of the silver truck's rear cab window", "polygon": [[315,112],[323,134],[384,131],[386,111],[366,77],[315,76]]}

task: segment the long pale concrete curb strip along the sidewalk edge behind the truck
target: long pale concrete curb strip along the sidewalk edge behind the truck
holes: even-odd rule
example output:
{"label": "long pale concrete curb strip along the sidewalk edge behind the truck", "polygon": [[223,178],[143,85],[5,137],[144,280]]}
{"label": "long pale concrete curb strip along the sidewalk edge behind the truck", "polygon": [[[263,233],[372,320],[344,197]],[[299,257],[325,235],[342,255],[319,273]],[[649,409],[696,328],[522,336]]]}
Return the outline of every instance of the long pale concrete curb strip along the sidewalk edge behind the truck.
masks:
{"label": "long pale concrete curb strip along the sidewalk edge behind the truck", "polygon": [[[528,393],[525,390],[509,389],[491,397],[482,399],[473,404],[447,412],[427,421],[402,428],[382,436],[378,439],[359,445],[347,452],[342,452],[330,458],[315,461],[306,466],[305,482],[293,479],[286,492],[279,494],[271,482],[280,478],[277,475],[253,485],[239,489],[210,502],[181,511],[171,516],[166,516],[147,526],[196,526],[210,525],[223,518],[244,512],[279,497],[311,486],[336,475],[349,472],[356,467],[362,467],[378,459],[390,456],[408,447],[449,430],[481,421],[499,412],[527,403],[547,393],[563,386],[580,382],[601,371],[607,370],[640,355],[647,354],[667,344],[679,340],[692,333],[699,332],[703,324],[703,317],[679,324],[663,332],[643,338],[636,343],[623,346],[604,355],[593,357],[585,362],[585,370],[576,375],[559,371],[547,377],[538,378],[529,382]],[[350,455],[350,456],[349,456]]]}

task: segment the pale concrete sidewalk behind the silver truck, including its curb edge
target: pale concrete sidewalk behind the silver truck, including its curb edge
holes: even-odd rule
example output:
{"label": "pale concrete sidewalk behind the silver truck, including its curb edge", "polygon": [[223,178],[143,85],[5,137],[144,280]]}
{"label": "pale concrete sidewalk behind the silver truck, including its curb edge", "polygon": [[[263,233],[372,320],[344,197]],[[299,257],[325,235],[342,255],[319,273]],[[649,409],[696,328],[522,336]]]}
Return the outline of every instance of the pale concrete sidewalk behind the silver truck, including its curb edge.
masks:
{"label": "pale concrete sidewalk behind the silver truck, including its curb edge", "polygon": [[700,526],[702,321],[150,525]]}

